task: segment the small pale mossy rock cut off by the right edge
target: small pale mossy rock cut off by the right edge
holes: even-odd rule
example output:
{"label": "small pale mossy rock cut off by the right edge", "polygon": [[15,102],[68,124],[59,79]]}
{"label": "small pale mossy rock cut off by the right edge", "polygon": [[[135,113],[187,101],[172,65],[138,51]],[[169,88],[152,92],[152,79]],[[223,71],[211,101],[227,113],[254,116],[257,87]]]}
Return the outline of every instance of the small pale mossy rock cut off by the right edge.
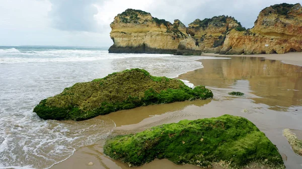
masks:
{"label": "small pale mossy rock cut off by the right edge", "polygon": [[295,133],[291,132],[290,129],[286,128],[283,130],[283,135],[288,140],[292,147],[292,150],[302,156],[302,140],[298,139]]}

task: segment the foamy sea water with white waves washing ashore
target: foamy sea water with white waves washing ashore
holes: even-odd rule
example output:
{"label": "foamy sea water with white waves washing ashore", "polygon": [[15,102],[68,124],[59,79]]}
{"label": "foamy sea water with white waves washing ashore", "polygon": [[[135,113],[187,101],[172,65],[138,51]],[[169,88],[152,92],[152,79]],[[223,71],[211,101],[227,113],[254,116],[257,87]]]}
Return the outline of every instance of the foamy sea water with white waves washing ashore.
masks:
{"label": "foamy sea water with white waves washing ashore", "polygon": [[[108,48],[0,47],[0,168],[49,168],[75,149],[106,138],[111,120],[42,120],[33,108],[77,82],[142,68],[177,77],[202,68],[201,56],[109,54]],[[185,81],[188,86],[192,84]]]}

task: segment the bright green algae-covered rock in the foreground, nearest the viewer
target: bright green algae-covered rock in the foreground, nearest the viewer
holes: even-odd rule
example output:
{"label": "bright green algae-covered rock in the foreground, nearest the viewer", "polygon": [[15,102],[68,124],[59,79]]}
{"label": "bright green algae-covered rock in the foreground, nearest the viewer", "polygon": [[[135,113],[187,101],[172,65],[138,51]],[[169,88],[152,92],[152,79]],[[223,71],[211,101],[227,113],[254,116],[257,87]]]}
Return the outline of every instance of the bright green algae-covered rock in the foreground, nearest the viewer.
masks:
{"label": "bright green algae-covered rock in the foreground, nearest the viewer", "polygon": [[251,121],[223,115],[217,118],[183,120],[137,134],[116,136],[106,141],[105,154],[132,165],[155,158],[177,164],[243,168],[285,168],[276,146]]}

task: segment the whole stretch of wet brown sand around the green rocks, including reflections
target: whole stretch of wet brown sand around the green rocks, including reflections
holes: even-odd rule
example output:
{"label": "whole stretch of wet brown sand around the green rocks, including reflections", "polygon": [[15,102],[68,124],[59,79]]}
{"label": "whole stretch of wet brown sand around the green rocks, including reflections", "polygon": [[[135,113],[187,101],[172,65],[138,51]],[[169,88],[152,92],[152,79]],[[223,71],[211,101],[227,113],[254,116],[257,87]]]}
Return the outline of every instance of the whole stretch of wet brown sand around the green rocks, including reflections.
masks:
{"label": "whole stretch of wet brown sand around the green rocks, including reflections", "polygon": [[[213,99],[138,107],[94,119],[115,122],[116,127],[111,137],[183,119],[194,120],[223,114],[243,116],[256,124],[277,146],[286,168],[302,168],[302,157],[292,151],[282,135],[284,128],[290,128],[299,135],[302,133],[302,67],[255,57],[232,57],[201,62],[204,68],[180,75],[178,78],[188,80],[194,85],[206,85],[213,91]],[[231,91],[241,91],[245,96],[230,96],[228,93]],[[86,122],[90,121],[93,122],[93,119]],[[104,143],[105,139],[101,139],[90,146],[82,147],[70,158],[51,168],[130,168],[104,155]],[[89,162],[94,164],[88,165]],[[156,159],[134,168],[200,167],[176,165],[167,159]]]}

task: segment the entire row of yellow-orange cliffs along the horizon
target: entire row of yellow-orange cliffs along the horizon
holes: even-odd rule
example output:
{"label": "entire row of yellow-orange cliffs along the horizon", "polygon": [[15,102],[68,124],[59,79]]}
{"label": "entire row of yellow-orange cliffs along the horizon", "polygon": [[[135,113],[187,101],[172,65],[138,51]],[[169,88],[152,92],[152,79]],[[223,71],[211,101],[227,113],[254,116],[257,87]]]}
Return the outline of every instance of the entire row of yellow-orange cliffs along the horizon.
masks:
{"label": "entire row of yellow-orange cliffs along the horizon", "polygon": [[235,18],[218,16],[186,27],[149,13],[128,9],[110,24],[114,44],[109,53],[169,53],[177,55],[271,54],[302,51],[302,7],[280,4],[262,10],[246,30]]}

